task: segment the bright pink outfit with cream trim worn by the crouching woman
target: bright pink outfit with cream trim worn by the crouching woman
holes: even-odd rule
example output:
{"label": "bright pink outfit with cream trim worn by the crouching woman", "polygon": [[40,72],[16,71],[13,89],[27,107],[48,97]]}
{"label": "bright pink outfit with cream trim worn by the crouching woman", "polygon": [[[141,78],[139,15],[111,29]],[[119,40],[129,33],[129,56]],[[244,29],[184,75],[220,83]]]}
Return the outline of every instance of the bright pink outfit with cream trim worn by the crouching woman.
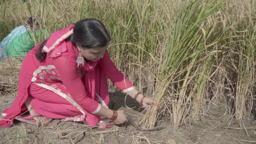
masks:
{"label": "bright pink outfit with cream trim worn by the crouching woman", "polygon": [[54,32],[44,46],[44,62],[36,59],[35,46],[24,58],[20,69],[18,95],[12,106],[2,112],[0,126],[11,126],[13,119],[27,108],[30,96],[36,113],[48,118],[83,121],[96,126],[100,116],[96,113],[109,103],[106,76],[122,92],[135,89],[110,59],[106,50],[104,58],[78,68],[78,48],[66,41],[74,26]]}

